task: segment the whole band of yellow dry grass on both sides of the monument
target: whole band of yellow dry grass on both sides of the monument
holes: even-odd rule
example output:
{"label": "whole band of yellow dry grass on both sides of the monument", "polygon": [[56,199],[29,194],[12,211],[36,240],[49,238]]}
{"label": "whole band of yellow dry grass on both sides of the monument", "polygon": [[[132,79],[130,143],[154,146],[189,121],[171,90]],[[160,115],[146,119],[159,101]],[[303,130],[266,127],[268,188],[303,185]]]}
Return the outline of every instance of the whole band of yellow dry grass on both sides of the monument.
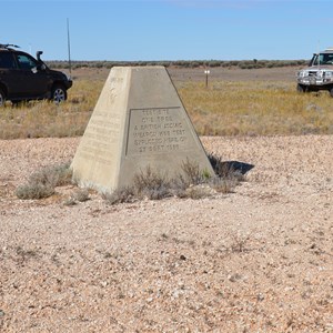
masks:
{"label": "whole band of yellow dry grass on both sides of the monument", "polygon": [[[255,74],[255,73],[253,73]],[[78,71],[67,102],[30,102],[0,112],[0,139],[82,135],[105,73]],[[179,94],[200,135],[332,134],[329,93],[300,94],[295,82],[178,82]]]}

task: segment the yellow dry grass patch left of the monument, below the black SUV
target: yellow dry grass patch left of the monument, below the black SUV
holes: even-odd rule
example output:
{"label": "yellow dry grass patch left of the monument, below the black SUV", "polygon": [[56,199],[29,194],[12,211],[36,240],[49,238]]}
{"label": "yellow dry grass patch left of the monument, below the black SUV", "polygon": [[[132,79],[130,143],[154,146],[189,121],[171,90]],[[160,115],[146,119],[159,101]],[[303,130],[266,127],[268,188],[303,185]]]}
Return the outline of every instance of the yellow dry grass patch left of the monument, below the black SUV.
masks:
{"label": "yellow dry grass patch left of the monument, below the black SUV", "polygon": [[0,139],[82,135],[102,85],[102,81],[78,80],[68,101],[59,105],[31,101],[12,107],[8,102],[0,110]]}

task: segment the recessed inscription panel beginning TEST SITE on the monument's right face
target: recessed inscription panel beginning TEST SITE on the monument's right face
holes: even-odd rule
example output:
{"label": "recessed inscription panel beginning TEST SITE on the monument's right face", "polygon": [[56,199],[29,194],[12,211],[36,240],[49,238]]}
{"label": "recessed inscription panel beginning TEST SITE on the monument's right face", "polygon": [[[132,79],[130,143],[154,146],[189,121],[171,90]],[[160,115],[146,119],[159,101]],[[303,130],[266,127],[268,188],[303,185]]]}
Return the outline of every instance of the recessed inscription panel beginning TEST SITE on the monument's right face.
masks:
{"label": "recessed inscription panel beginning TEST SITE on the monument's right face", "polygon": [[189,150],[191,132],[181,108],[131,109],[127,155]]}

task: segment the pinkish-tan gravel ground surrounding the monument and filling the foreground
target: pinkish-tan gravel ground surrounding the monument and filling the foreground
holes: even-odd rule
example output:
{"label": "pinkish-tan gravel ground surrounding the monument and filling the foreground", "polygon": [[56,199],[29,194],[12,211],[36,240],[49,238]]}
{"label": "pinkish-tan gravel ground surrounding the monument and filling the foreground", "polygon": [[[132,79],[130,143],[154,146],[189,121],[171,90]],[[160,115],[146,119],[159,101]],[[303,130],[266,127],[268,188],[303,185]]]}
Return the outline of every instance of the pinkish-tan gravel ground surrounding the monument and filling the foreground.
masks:
{"label": "pinkish-tan gravel ground surrounding the monument and filling the foreground", "polygon": [[79,139],[0,141],[1,332],[333,332],[333,137],[201,138],[234,193],[14,196]]}

